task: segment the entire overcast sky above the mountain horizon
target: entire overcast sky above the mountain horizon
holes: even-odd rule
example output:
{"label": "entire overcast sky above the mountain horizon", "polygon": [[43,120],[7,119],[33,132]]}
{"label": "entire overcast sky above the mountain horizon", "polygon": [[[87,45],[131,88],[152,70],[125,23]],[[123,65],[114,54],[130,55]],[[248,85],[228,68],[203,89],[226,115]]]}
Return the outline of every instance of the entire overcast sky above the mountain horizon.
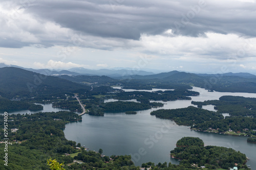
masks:
{"label": "entire overcast sky above the mountain horizon", "polygon": [[0,63],[256,74],[256,0],[1,0]]}

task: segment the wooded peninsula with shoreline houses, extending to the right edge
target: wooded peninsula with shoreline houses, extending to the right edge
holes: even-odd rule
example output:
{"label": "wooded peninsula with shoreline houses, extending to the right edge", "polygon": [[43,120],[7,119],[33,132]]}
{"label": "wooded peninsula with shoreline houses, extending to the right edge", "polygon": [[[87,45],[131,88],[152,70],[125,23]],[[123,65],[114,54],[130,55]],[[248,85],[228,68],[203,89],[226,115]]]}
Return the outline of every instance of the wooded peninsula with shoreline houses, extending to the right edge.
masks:
{"label": "wooded peninsula with shoreline houses, extending to the right edge", "polygon": [[174,120],[177,125],[191,126],[191,130],[256,136],[256,118],[227,116],[218,112],[189,106],[181,109],[159,109],[151,112],[159,118]]}

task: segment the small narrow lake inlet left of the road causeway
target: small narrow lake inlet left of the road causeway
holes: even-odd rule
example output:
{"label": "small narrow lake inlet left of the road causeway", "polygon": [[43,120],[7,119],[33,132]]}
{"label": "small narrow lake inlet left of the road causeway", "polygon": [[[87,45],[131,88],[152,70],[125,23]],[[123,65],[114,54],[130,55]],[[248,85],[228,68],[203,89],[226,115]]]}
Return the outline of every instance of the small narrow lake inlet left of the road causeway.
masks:
{"label": "small narrow lake inlet left of the road causeway", "polygon": [[[36,103],[37,104],[37,103]],[[43,110],[39,111],[30,111],[30,110],[11,110],[8,111],[8,114],[31,114],[31,113],[38,113],[38,112],[58,112],[58,111],[69,111],[68,109],[60,109],[52,107],[52,104],[37,104],[44,106]]]}

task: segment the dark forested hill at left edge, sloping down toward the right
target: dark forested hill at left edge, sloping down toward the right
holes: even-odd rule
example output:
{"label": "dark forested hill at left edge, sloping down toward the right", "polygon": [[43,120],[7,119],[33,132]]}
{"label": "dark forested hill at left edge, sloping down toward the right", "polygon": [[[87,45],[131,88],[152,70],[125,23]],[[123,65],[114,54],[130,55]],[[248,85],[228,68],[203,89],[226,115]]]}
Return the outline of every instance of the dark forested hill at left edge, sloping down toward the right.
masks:
{"label": "dark forested hill at left edge, sloping down toward the right", "polygon": [[0,68],[0,95],[13,98],[17,95],[33,96],[35,94],[53,94],[78,89],[89,90],[90,86],[77,84],[52,76],[15,67]]}

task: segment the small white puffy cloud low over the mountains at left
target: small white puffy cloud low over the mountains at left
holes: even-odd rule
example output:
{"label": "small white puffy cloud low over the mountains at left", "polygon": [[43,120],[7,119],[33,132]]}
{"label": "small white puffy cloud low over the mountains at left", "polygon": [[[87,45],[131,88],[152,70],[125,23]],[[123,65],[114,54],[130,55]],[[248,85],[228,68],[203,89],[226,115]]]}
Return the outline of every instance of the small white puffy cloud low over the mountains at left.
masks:
{"label": "small white puffy cloud low over the mountains at left", "polygon": [[34,62],[34,66],[37,68],[48,68],[48,69],[68,69],[68,68],[72,68],[72,67],[83,67],[85,65],[75,64],[72,62],[65,63],[65,62],[61,62],[61,61],[49,60],[47,62],[47,64]]}

